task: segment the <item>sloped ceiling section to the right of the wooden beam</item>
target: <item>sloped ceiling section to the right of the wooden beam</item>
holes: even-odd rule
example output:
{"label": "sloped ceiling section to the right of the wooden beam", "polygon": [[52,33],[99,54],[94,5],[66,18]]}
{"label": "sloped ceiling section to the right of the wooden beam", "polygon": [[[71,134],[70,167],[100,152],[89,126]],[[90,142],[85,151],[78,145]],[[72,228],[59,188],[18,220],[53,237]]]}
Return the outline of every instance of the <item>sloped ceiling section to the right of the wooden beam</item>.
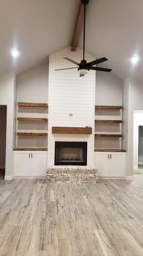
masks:
{"label": "sloped ceiling section to the right of the wooden beam", "polygon": [[[143,81],[143,1],[90,0],[87,7],[86,49],[97,58],[105,55],[105,67],[121,79],[131,76]],[[82,33],[78,46],[82,47]],[[136,66],[130,58],[139,55]]]}

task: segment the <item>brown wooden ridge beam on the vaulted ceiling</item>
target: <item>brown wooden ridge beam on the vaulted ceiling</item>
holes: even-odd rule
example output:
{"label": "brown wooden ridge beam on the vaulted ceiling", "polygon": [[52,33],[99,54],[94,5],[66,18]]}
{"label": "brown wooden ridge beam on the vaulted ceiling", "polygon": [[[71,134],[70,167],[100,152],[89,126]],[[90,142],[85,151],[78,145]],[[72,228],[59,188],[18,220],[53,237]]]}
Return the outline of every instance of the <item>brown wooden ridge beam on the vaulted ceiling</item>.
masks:
{"label": "brown wooden ridge beam on the vaulted ceiling", "polygon": [[76,47],[77,47],[77,44],[78,44],[79,35],[81,33],[83,23],[84,23],[84,5],[81,3],[81,0],[80,0],[78,16],[77,16],[77,19],[76,19],[75,30],[74,30],[74,33],[73,33],[73,40],[72,40],[72,43],[71,43],[71,52],[76,51]]}

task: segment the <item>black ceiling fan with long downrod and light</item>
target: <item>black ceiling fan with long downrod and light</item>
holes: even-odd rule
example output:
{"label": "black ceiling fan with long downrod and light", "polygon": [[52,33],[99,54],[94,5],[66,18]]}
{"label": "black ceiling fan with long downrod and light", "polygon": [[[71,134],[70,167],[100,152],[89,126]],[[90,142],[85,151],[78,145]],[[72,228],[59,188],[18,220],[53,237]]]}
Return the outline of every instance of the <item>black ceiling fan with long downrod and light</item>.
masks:
{"label": "black ceiling fan with long downrod and light", "polygon": [[[85,56],[85,16],[86,16],[86,5],[88,4],[89,0],[81,0],[82,4],[84,5],[84,46],[83,46],[83,60],[81,60],[80,63],[75,62],[75,60],[71,60],[70,58],[64,57],[65,60],[68,60],[69,62],[74,63],[75,65],[78,65],[78,72],[80,74],[80,77],[84,76],[85,74],[88,73],[88,71],[91,70],[96,70],[96,71],[104,71],[104,72],[110,72],[111,69],[108,68],[99,68],[96,67],[94,65],[97,65],[99,63],[105,62],[108,59],[106,59],[105,57],[98,59],[98,60],[93,60],[93,62],[88,62],[87,60],[84,59]],[[74,67],[77,68],[77,67]],[[73,68],[61,68],[61,69],[55,69],[55,71],[59,71],[59,70],[65,70],[65,69],[73,69]]]}

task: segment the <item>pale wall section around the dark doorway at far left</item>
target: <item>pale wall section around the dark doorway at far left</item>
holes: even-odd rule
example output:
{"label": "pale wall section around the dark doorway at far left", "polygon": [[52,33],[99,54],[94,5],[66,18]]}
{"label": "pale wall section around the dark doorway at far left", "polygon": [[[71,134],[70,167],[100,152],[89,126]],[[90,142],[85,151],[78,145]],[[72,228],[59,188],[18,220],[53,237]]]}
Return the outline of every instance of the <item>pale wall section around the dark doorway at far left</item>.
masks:
{"label": "pale wall section around the dark doorway at far left", "polygon": [[7,105],[7,138],[5,177],[12,177],[13,169],[13,133],[15,116],[15,75],[13,73],[0,77],[0,105]]}

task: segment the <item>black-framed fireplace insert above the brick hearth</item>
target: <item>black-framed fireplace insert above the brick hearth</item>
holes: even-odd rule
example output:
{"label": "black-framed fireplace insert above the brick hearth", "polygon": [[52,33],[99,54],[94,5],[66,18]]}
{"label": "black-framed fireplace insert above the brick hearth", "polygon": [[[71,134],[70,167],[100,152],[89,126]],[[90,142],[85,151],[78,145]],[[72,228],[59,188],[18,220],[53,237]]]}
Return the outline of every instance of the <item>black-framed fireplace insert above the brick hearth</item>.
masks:
{"label": "black-framed fireplace insert above the brick hearth", "polygon": [[55,165],[87,165],[87,142],[56,141]]}

